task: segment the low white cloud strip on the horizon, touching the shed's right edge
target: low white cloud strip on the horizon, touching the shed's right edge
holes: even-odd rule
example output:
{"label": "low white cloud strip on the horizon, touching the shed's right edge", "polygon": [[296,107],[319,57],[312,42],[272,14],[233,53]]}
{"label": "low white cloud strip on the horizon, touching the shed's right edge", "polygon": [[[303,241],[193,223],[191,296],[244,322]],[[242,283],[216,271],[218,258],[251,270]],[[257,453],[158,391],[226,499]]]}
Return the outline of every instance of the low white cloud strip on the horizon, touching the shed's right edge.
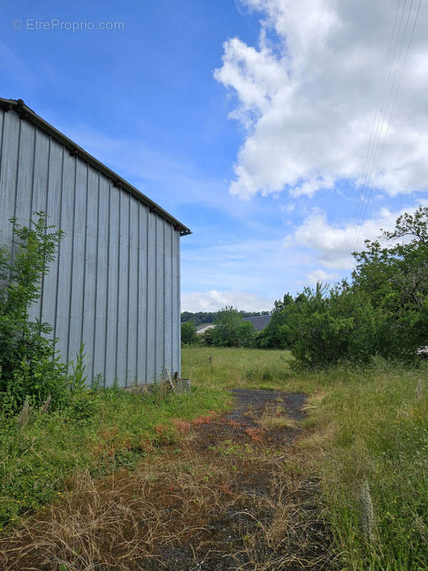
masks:
{"label": "low white cloud strip on the horizon, touching the shed's right edge", "polygon": [[273,308],[273,299],[245,291],[217,291],[187,293],[181,296],[182,311],[217,311],[225,305],[233,305],[242,311],[268,311]]}

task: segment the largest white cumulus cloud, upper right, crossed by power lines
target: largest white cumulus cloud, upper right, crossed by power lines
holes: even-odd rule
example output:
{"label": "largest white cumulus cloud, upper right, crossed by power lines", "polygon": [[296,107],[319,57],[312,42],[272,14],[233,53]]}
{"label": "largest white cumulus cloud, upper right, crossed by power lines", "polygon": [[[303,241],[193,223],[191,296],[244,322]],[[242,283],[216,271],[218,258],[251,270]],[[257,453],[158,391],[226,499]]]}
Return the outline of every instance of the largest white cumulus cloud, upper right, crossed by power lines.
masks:
{"label": "largest white cumulus cloud, upper right, crossed by power lines", "polygon": [[417,1],[401,2],[397,19],[389,0],[243,4],[264,15],[259,44],[226,41],[215,70],[237,96],[230,116],[247,130],[230,192],[312,196],[344,179],[359,186],[365,166],[369,185],[391,196],[427,190],[427,6],[406,56]]}

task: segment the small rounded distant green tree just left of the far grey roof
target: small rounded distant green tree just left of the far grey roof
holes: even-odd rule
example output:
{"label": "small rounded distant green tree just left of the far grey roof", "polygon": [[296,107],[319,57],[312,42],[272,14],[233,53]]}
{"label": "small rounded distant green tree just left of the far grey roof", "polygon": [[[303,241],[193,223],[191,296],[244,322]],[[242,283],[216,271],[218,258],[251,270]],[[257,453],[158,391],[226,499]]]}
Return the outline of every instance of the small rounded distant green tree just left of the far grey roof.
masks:
{"label": "small rounded distant green tree just left of the far grey roof", "polygon": [[211,339],[217,347],[249,347],[253,343],[253,324],[244,321],[231,305],[220,310],[215,318]]}

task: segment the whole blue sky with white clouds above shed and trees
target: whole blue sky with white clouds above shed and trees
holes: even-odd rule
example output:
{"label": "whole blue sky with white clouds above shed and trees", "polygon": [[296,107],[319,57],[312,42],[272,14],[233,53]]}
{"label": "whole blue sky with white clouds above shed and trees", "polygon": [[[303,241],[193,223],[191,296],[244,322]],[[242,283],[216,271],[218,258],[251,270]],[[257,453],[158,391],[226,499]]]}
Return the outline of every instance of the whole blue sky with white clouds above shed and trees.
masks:
{"label": "whole blue sky with white clouds above shed and trees", "polygon": [[[352,247],[427,198],[418,5],[7,5],[1,96],[23,98],[193,230],[183,310],[270,309],[349,275]],[[100,22],[119,29],[91,29]]]}

